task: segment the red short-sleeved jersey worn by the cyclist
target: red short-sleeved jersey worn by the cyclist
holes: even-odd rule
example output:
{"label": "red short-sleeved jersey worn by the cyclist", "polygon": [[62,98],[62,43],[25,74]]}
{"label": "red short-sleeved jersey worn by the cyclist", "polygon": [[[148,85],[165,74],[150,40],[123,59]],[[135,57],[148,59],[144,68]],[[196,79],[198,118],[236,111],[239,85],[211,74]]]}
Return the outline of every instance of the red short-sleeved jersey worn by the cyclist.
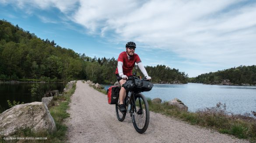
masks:
{"label": "red short-sleeved jersey worn by the cyclist", "polygon": [[[140,63],[140,57],[136,53],[128,59],[126,52],[122,52],[119,54],[117,62],[123,62],[123,74],[126,76],[132,76],[133,74],[133,67],[135,63]],[[116,74],[118,74],[118,69],[116,68]]]}

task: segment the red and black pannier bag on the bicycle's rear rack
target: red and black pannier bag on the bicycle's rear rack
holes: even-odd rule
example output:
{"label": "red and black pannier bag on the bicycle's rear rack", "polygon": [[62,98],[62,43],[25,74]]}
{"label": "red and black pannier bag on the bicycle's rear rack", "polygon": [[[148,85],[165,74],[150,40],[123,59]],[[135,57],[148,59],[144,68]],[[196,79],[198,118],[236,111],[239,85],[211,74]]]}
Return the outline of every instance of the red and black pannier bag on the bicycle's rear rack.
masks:
{"label": "red and black pannier bag on the bicycle's rear rack", "polygon": [[109,89],[107,90],[109,104],[116,104],[118,102],[118,96],[119,96],[120,89],[121,89],[120,86],[110,86],[109,87]]}

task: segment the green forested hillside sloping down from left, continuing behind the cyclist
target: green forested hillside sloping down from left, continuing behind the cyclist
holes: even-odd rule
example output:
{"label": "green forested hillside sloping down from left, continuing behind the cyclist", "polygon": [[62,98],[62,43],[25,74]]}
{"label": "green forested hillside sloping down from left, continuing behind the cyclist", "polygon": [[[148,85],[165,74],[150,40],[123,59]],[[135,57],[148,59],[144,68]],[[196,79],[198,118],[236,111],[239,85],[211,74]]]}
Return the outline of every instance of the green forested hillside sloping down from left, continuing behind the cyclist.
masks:
{"label": "green forested hillside sloping down from left, continuing behind the cyclist", "polygon": [[[117,58],[117,57],[116,57]],[[34,33],[0,20],[0,80],[43,81],[92,80],[114,83],[117,60],[88,57],[85,53],[40,39]],[[187,83],[188,75],[165,65],[145,67],[153,83]],[[134,68],[142,75],[137,66]]]}

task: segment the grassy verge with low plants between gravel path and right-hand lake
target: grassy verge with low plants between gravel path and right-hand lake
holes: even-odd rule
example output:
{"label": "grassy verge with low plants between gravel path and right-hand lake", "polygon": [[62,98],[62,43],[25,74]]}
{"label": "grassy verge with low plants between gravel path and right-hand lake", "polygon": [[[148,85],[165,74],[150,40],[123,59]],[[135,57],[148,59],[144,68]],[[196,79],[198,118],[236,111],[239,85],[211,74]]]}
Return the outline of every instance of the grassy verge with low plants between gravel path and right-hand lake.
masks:
{"label": "grassy verge with low plants between gravel path and right-hand lake", "polygon": [[168,102],[152,103],[147,98],[149,110],[166,116],[173,116],[192,125],[199,125],[220,133],[234,135],[239,139],[256,142],[256,119],[250,116],[233,115],[225,111],[226,106],[217,103],[216,107],[197,110],[195,113],[179,110],[175,106],[168,106]]}

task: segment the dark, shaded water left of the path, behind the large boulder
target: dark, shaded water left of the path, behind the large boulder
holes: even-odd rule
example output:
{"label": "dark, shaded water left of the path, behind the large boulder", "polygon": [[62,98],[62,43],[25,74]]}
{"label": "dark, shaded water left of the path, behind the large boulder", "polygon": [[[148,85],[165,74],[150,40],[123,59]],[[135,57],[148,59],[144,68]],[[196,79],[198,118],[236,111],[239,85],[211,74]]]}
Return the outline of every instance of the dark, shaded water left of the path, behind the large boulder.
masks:
{"label": "dark, shaded water left of the path, behind the large boulder", "polygon": [[65,84],[63,83],[39,83],[39,89],[41,95],[31,96],[32,83],[1,83],[0,84],[0,106],[5,110],[9,109],[7,100],[11,102],[13,100],[24,103],[31,103],[35,101],[42,101],[42,96],[49,90],[59,90],[59,93],[63,92]]}

